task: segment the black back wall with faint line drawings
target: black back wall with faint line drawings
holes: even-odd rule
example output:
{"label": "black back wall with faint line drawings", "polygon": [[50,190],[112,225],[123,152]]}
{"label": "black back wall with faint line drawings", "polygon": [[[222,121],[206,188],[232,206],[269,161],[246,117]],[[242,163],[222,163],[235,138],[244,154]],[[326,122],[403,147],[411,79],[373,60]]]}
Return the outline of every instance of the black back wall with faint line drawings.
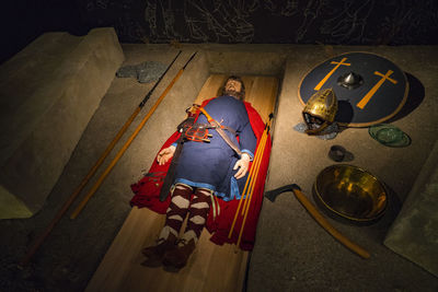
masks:
{"label": "black back wall with faint line drawings", "polygon": [[437,45],[437,0],[10,0],[4,60],[45,32],[115,27],[120,43]]}

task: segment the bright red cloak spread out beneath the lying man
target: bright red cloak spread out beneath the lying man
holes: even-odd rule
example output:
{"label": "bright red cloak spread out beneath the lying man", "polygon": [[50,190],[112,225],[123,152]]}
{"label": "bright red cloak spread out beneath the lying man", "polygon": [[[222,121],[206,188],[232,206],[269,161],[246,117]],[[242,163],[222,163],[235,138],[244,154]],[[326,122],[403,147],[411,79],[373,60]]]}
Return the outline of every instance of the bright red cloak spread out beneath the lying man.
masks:
{"label": "bright red cloak spread out beneath the lying man", "polygon": [[[207,100],[203,103],[201,106],[205,106],[209,101]],[[262,133],[265,129],[265,124],[263,122],[262,118],[260,117],[258,113],[251,106],[250,103],[244,103],[247,112],[247,116],[250,118],[251,126],[253,128],[253,131],[255,133],[255,137],[257,138],[257,142],[260,142]],[[180,137],[178,132],[173,133],[168,141],[163,144],[161,149],[168,148],[171,145],[173,142],[177,140]],[[245,225],[244,225],[244,231],[242,234],[242,240],[240,243],[240,248],[243,250],[251,250],[254,247],[254,241],[255,241],[255,232],[256,232],[256,226],[257,226],[257,221],[258,221],[258,215],[260,211],[262,209],[262,202],[263,202],[263,192],[264,192],[264,187],[265,187],[265,178],[266,178],[266,173],[267,173],[267,167],[269,163],[269,155],[270,155],[270,136],[268,137],[264,150],[264,155],[263,160],[260,165],[258,170],[258,175],[257,175],[257,180],[254,187],[254,191],[252,195],[251,199],[251,205],[250,205],[250,212],[247,214]],[[257,144],[257,148],[260,145]],[[257,148],[255,150],[255,153],[257,152]],[[160,149],[160,151],[161,151]],[[168,172],[170,166],[170,161],[165,163],[164,165],[159,165],[157,163],[157,160],[153,161],[149,174],[152,174],[150,176],[145,176],[141,178],[137,184],[131,185],[131,189],[135,194],[132,197],[130,205],[131,206],[137,206],[138,208],[143,208],[147,207],[151,209],[152,211],[155,211],[158,213],[164,214],[171,198],[168,196],[168,199],[164,202],[161,202],[159,199],[160,196],[160,189],[162,187],[165,173]],[[251,170],[252,163],[250,165]],[[222,245],[223,243],[230,243],[230,244],[237,244],[238,238],[239,238],[239,233],[241,230],[243,217],[238,215],[237,223],[233,229],[233,233],[231,238],[228,238],[232,222],[234,220],[235,211],[239,206],[239,200],[232,200],[232,201],[223,201],[221,199],[216,199],[217,202],[219,202],[220,207],[220,213],[214,217],[214,209],[216,208],[210,208],[210,213],[208,215],[208,220],[206,223],[207,230],[212,234],[210,241],[214,242],[215,244]],[[241,203],[241,209],[240,212],[242,211],[244,201]]]}

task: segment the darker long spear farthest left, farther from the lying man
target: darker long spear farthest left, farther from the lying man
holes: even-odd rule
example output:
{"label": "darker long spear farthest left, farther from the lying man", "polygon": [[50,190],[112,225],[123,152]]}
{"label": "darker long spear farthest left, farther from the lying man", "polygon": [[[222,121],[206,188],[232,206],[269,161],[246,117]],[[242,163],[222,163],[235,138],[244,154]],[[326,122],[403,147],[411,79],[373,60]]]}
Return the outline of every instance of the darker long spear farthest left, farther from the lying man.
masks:
{"label": "darker long spear farthest left, farther from the lying man", "polygon": [[152,95],[152,92],[155,90],[157,85],[161,82],[165,73],[169,71],[169,69],[173,66],[177,57],[181,55],[181,50],[178,54],[173,58],[172,62],[168,66],[165,71],[161,74],[160,79],[155,82],[153,87],[148,92],[148,94],[145,96],[145,98],[141,101],[141,103],[136,107],[134,113],[130,115],[130,117],[126,120],[125,125],[120,128],[120,130],[117,132],[117,135],[114,137],[113,141],[106,147],[104,153],[101,155],[101,157],[96,161],[96,163],[91,167],[90,172],[87,174],[87,176],[82,179],[82,182],[79,184],[79,186],[74,189],[73,194],[70,195],[70,197],[67,199],[67,201],[64,203],[61,209],[56,213],[55,218],[51,220],[49,225],[46,227],[46,230],[36,238],[34,244],[31,246],[31,248],[27,250],[26,256],[21,260],[19,264],[19,267],[24,267],[26,266],[36,250],[38,250],[39,246],[44,243],[46,237],[50,234],[51,230],[58,224],[58,222],[61,220],[62,215],[67,212],[69,207],[73,203],[74,199],[78,197],[78,195],[81,192],[81,190],[84,188],[87,183],[90,180],[90,178],[95,174],[97,171],[99,166],[103,163],[103,161],[106,159],[106,156],[110,154],[110,152],[113,150],[115,144],[120,140],[122,136],[126,132],[132,120],[137,117],[137,115],[140,113],[141,108],[145,106],[146,102],[150,98]]}

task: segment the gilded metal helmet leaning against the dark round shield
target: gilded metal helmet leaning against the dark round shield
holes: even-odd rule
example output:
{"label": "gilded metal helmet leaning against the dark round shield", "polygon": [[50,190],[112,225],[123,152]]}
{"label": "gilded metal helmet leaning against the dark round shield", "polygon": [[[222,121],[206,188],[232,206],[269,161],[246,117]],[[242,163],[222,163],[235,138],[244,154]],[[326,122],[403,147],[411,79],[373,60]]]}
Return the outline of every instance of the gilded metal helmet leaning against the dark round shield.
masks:
{"label": "gilded metal helmet leaning against the dark round shield", "polygon": [[308,129],[308,135],[319,135],[336,116],[337,98],[333,89],[320,90],[307,102],[302,116]]}

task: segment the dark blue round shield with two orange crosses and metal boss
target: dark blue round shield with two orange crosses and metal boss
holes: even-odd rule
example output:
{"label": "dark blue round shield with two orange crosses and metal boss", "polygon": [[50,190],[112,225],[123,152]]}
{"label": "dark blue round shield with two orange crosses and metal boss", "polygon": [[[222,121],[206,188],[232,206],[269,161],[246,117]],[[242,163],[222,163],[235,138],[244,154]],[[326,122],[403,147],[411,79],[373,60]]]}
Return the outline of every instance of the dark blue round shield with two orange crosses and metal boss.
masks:
{"label": "dark blue round shield with two orange crosses and metal boss", "polygon": [[301,80],[298,96],[306,105],[315,92],[330,87],[338,101],[335,121],[348,127],[388,120],[402,109],[408,92],[404,72],[370,52],[347,52],[318,65]]}

